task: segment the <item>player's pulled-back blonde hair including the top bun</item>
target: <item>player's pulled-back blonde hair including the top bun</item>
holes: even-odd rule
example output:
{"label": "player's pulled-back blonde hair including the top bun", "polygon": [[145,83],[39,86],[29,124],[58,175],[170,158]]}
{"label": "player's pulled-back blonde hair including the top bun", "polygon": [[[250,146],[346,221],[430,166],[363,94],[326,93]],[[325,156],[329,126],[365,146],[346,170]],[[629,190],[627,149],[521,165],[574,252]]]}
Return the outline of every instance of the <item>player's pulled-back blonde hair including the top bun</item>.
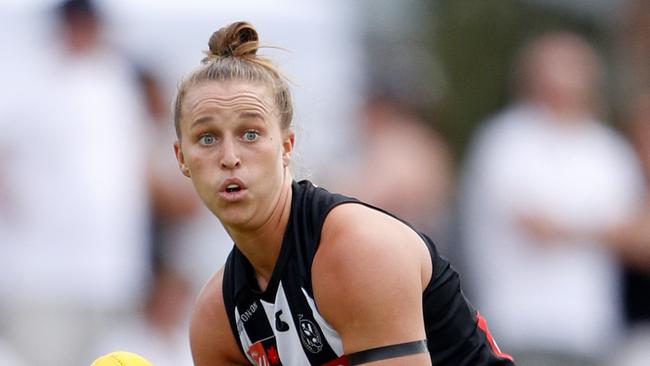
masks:
{"label": "player's pulled-back blonde hair including the top bun", "polygon": [[293,102],[289,85],[278,67],[257,55],[260,48],[255,28],[247,22],[236,22],[214,32],[201,66],[187,75],[178,86],[174,101],[174,128],[180,139],[183,99],[190,87],[206,81],[239,80],[268,86],[273,94],[283,129],[291,126]]}

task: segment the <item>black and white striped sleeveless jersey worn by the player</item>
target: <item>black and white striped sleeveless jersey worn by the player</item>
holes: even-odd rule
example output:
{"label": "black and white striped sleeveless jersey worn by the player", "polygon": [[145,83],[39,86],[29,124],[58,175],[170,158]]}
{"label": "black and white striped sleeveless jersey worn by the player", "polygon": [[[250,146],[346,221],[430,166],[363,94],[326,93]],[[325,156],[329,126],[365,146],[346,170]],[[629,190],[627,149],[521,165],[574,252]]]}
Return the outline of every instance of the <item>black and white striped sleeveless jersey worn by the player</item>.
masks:
{"label": "black and white striped sleeveless jersey worn by the player", "polygon": [[[230,326],[253,365],[348,365],[338,333],[314,302],[311,265],[323,222],[334,207],[354,202],[386,212],[309,181],[293,182],[292,191],[289,221],[266,290],[260,291],[251,264],[237,247],[226,260],[223,298]],[[513,365],[510,356],[496,347],[485,320],[463,296],[458,274],[432,241],[420,236],[433,263],[422,296],[433,365]]]}

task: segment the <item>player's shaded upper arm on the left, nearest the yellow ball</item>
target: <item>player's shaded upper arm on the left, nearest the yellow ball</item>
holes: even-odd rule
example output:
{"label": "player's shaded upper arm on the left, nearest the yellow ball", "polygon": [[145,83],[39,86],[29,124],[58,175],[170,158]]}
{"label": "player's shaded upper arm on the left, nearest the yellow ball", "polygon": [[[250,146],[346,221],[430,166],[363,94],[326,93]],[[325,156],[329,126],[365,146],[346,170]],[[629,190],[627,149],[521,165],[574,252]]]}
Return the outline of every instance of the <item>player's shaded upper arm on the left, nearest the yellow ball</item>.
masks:
{"label": "player's shaded upper arm on the left, nearest the yellow ball", "polygon": [[203,287],[192,314],[190,345],[196,366],[247,365],[226,315],[223,268]]}

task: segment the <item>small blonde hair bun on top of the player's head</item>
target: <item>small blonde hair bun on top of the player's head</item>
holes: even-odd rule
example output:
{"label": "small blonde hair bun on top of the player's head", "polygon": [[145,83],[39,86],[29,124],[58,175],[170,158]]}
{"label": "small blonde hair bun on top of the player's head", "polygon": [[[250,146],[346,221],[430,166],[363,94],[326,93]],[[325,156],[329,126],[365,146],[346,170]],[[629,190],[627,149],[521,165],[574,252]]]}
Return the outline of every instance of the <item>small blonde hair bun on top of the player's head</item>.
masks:
{"label": "small blonde hair bun on top of the player's head", "polygon": [[248,22],[236,22],[212,33],[203,62],[217,57],[254,56],[259,48],[257,31]]}

